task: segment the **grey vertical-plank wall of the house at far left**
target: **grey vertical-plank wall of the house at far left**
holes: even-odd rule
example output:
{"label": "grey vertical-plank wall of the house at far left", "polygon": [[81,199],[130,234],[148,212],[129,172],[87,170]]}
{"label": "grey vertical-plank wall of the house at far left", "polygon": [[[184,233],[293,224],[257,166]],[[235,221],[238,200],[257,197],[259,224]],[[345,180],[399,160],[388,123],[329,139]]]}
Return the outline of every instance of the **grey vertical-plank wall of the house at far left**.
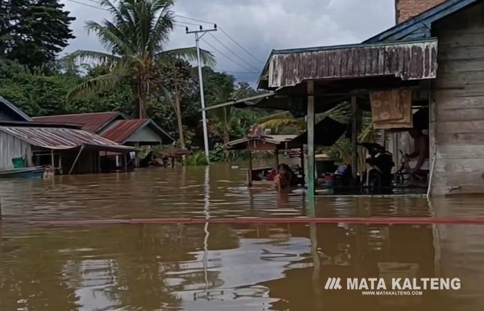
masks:
{"label": "grey vertical-plank wall of the house at far left", "polygon": [[12,158],[27,157],[27,165],[32,166],[30,144],[0,131],[0,169],[13,169]]}

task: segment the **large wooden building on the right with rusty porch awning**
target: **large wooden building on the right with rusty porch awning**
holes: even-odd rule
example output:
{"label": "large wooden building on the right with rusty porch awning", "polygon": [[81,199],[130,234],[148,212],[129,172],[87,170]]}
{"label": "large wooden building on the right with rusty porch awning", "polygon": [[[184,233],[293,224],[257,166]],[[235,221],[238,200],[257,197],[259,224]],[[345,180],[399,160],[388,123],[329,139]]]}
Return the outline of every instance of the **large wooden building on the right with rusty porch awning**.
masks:
{"label": "large wooden building on the right with rusty porch awning", "polygon": [[[416,14],[412,3],[428,10]],[[309,194],[315,113],[351,103],[357,167],[359,111],[371,110],[371,93],[393,90],[411,92],[412,110],[429,108],[429,192],[484,192],[484,0],[396,5],[402,22],[361,44],[272,50],[259,78],[270,93],[226,103],[307,116]]]}

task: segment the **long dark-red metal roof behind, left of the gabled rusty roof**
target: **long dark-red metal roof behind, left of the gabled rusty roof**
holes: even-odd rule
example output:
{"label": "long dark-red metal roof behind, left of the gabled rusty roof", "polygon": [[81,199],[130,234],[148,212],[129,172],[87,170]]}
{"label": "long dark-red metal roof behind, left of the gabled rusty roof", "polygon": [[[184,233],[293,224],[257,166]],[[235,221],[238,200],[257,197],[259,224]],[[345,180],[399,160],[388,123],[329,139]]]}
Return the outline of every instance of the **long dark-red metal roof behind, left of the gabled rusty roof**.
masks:
{"label": "long dark-red metal roof behind, left of the gabled rusty roof", "polygon": [[109,124],[109,122],[118,117],[124,119],[119,111],[108,111],[101,113],[77,113],[73,115],[47,115],[44,117],[34,117],[33,120],[34,122],[80,124],[82,125],[82,129],[97,133]]}

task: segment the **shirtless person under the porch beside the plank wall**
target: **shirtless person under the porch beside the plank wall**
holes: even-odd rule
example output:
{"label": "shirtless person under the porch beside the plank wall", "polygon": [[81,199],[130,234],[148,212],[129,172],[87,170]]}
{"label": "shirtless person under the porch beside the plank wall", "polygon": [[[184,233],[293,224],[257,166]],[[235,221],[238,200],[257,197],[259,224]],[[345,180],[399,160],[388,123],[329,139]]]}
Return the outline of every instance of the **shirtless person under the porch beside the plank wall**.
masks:
{"label": "shirtless person under the porch beside the plank wall", "polygon": [[409,170],[412,176],[418,173],[427,173],[430,169],[429,136],[422,133],[420,129],[411,129],[409,133],[413,138],[414,151],[403,156],[404,167]]}

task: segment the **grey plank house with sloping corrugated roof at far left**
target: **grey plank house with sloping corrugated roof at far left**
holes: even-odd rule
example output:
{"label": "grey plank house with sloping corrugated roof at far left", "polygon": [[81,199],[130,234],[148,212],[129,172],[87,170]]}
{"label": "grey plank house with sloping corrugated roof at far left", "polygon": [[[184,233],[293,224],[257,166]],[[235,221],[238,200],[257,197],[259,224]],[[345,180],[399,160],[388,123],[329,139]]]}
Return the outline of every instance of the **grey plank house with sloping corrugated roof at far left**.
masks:
{"label": "grey plank house with sloping corrugated roof at far left", "polygon": [[96,173],[102,170],[100,151],[120,153],[126,159],[131,151],[137,151],[81,127],[47,120],[33,122],[0,97],[0,169],[12,169],[13,158],[24,158],[28,167],[51,165],[56,173]]}

